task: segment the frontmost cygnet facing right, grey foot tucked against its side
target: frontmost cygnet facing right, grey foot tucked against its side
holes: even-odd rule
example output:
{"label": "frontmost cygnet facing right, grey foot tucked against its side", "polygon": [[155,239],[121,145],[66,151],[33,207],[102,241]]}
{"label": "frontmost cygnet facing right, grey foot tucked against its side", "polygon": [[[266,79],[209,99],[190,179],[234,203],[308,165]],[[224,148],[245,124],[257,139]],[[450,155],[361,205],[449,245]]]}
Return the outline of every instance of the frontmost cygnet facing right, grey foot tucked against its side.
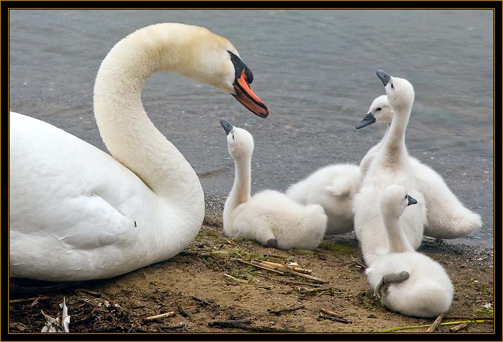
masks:
{"label": "frontmost cygnet facing right, grey foot tucked against its side", "polygon": [[388,250],[365,272],[374,296],[389,309],[408,316],[437,317],[449,310],[454,289],[444,268],[415,252],[405,239],[399,219],[407,206],[416,203],[403,186],[394,184],[384,190],[380,212]]}

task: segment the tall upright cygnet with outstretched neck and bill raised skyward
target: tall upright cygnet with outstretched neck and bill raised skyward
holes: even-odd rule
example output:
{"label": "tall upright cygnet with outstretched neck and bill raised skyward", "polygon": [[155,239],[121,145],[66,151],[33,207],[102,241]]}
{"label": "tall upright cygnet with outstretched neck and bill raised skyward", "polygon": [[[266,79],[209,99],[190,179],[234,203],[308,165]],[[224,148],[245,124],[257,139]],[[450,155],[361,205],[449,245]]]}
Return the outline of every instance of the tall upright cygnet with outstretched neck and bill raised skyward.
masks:
{"label": "tall upright cygnet with outstretched neck and bill raised skyward", "polygon": [[420,203],[400,218],[406,239],[413,249],[421,244],[427,221],[425,199],[417,189],[405,147],[405,129],[414,102],[414,89],[407,80],[389,76],[382,70],[377,71],[377,76],[385,86],[388,101],[394,109],[394,117],[354,199],[355,233],[369,266],[387,249],[385,228],[375,206],[375,201],[381,198],[387,186],[405,186]]}

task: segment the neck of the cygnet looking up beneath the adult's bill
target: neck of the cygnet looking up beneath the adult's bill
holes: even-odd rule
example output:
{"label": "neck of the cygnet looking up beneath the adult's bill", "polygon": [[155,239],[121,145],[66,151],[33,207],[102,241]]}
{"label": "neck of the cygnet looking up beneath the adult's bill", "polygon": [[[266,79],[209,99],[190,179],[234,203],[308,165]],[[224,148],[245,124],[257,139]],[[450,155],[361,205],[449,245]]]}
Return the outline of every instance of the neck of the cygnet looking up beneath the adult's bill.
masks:
{"label": "neck of the cygnet looking up beneath the adult's bill", "polygon": [[234,184],[226,204],[230,210],[234,210],[239,204],[245,203],[250,198],[251,156],[234,159],[234,166]]}

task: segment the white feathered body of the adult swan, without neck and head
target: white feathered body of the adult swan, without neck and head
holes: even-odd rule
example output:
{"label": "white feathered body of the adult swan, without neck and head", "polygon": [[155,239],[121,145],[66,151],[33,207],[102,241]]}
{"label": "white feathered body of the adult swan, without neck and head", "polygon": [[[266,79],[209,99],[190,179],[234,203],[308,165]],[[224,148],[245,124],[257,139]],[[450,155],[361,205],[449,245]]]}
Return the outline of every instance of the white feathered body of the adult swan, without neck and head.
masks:
{"label": "white feathered body of the adult swan, without neck and head", "polygon": [[197,234],[201,198],[194,218],[183,216],[100,149],[29,116],[10,120],[11,277],[109,278],[169,258]]}

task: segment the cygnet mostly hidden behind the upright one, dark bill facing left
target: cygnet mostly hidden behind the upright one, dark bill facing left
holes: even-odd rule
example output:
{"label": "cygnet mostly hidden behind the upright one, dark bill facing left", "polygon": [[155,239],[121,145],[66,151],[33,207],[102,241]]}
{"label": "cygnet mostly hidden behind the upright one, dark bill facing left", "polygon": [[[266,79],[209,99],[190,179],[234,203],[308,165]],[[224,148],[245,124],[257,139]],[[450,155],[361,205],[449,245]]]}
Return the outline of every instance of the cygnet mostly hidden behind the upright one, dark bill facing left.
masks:
{"label": "cygnet mostly hidden behind the upright one, dark bill facing left", "polygon": [[[388,102],[388,97],[381,95],[372,102],[367,115],[356,126],[358,129],[374,122],[386,123],[388,126],[381,142],[372,147],[360,162],[362,178],[365,177],[370,163],[386,138],[392,118],[393,108]],[[439,239],[454,239],[473,233],[482,226],[480,216],[463,206],[441,175],[415,158],[409,156],[409,161],[414,170],[417,188],[426,200],[428,223],[425,235]]]}

